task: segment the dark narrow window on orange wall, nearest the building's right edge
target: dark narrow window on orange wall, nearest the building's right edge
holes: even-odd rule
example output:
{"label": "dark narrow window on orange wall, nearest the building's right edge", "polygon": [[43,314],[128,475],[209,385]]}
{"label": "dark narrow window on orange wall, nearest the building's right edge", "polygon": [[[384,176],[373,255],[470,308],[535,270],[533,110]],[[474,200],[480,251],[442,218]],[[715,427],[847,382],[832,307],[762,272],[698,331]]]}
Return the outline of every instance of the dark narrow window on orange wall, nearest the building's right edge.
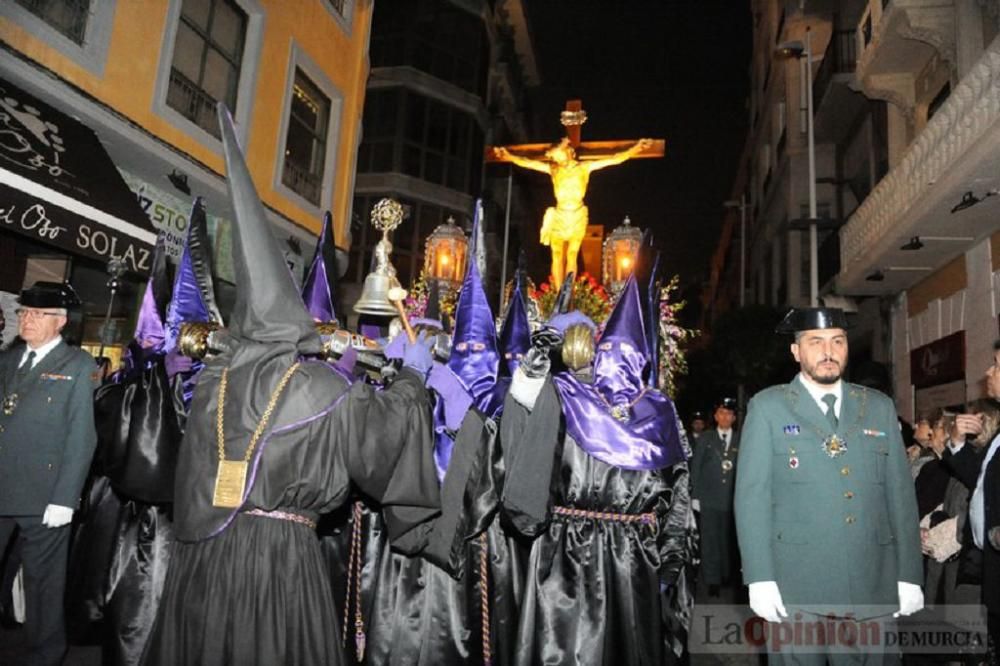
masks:
{"label": "dark narrow window on orange wall, nearest the building's right edge", "polygon": [[301,70],[295,70],[281,182],[317,206],[323,191],[329,127],[330,98]]}

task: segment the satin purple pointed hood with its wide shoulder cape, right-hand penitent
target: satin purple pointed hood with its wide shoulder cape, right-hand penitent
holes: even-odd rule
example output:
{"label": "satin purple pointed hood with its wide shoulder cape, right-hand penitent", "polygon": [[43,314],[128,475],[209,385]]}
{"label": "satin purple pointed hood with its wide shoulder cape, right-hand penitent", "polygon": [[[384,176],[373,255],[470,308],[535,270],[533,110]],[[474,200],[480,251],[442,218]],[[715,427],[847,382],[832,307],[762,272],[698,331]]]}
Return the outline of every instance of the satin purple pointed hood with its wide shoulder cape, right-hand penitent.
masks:
{"label": "satin purple pointed hood with its wide shoulder cape, right-hand penitent", "polygon": [[570,373],[553,378],[567,433],[589,455],[635,470],[659,469],[685,459],[673,402],[647,386],[649,364],[633,275],[598,341],[593,384]]}

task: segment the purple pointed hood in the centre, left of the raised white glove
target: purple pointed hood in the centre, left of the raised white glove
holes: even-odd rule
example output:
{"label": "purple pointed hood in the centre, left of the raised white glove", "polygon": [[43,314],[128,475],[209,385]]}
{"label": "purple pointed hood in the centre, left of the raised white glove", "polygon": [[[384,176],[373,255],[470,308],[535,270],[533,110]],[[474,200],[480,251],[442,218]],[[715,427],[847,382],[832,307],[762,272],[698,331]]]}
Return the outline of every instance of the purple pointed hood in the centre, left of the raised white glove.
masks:
{"label": "purple pointed hood in the centre, left of the raised white glove", "polygon": [[[477,200],[472,222],[473,242],[477,238],[481,217],[482,202]],[[470,254],[474,256],[474,253]],[[475,261],[468,262],[462,292],[455,305],[455,330],[448,367],[469,391],[476,406],[487,416],[493,416],[499,409],[493,394],[500,367],[500,354],[497,351],[493,311],[486,300],[486,291]]]}

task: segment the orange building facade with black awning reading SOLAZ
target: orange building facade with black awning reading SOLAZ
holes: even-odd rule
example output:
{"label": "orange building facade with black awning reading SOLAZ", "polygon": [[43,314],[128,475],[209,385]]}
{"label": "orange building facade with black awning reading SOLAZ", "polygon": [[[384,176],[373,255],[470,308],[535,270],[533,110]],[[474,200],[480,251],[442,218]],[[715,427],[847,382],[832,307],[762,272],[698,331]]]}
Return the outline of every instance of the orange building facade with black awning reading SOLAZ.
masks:
{"label": "orange building facade with black awning reading SOLAZ", "polygon": [[[54,146],[53,154],[60,154],[62,139],[53,143],[39,129],[46,113],[96,136],[93,150],[106,152],[113,165],[101,174],[101,186],[74,196],[69,185],[57,192],[69,199],[51,196],[44,203],[54,211],[60,203],[75,206],[89,215],[92,232],[111,236],[117,230],[121,242],[102,241],[98,249],[106,251],[94,252],[79,242],[74,248],[37,233],[29,238],[8,222],[0,229],[0,256],[8,267],[0,289],[17,291],[44,268],[46,276],[78,286],[88,319],[103,315],[106,260],[120,256],[129,242],[136,244],[134,253],[148,253],[159,231],[178,254],[193,199],[200,196],[225,312],[232,296],[232,213],[217,102],[233,114],[260,198],[276,235],[287,241],[293,272],[301,277],[303,254],[311,255],[325,211],[332,212],[338,243],[346,246],[371,15],[371,0],[2,3],[0,85],[5,101],[21,112],[19,124],[12,130],[13,121],[7,122],[6,129]],[[0,147],[7,162],[19,150],[20,144]],[[58,190],[12,172],[0,171],[0,185],[43,199]],[[131,202],[123,200],[130,196]],[[108,215],[115,206],[128,210]],[[121,324],[116,344],[131,334],[148,265],[129,268],[133,279],[113,313]],[[84,338],[92,338],[94,327],[84,323]]]}

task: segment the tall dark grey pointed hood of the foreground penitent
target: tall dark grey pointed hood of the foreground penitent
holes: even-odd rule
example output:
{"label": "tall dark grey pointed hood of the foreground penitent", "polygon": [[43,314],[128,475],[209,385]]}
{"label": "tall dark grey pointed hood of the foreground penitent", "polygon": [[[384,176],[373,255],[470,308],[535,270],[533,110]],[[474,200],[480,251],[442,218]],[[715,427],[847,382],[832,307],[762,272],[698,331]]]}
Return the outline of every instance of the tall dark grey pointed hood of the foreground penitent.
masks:
{"label": "tall dark grey pointed hood of the foreground penitent", "polygon": [[292,343],[318,353],[320,339],[271,232],[264,206],[243,159],[229,110],[218,105],[226,182],[233,202],[233,264],[236,304],[229,316],[237,340]]}

